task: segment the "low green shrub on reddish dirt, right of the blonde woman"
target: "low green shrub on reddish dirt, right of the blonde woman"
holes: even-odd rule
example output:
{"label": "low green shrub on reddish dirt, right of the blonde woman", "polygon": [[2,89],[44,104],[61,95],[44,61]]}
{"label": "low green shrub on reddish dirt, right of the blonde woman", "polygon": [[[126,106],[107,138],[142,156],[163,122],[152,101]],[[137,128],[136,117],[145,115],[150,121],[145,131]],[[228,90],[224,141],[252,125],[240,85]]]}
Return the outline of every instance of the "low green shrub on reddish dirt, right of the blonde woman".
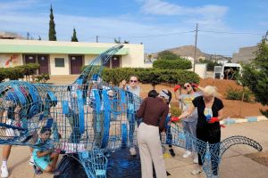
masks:
{"label": "low green shrub on reddish dirt, right of the blonde woman", "polygon": [[253,101],[253,93],[247,89],[244,88],[244,90],[234,89],[230,86],[230,88],[225,93],[225,97],[227,100],[237,100],[241,101],[244,93],[244,99],[243,101],[246,102],[252,102]]}

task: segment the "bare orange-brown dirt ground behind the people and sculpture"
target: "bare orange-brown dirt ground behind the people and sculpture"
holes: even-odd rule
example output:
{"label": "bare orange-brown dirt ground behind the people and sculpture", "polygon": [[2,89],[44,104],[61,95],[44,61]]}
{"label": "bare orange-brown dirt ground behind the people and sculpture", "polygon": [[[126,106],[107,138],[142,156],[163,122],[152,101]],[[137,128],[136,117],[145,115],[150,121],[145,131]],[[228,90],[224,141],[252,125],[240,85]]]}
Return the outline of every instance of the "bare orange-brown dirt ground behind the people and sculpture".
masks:
{"label": "bare orange-brown dirt ground behind the people and sculpture", "polygon": [[[79,77],[78,75],[71,76],[52,76],[48,83],[54,85],[71,85],[74,80]],[[153,89],[152,85],[141,86],[141,97],[147,97],[147,93]],[[224,117],[249,117],[249,116],[259,116],[261,115],[260,109],[268,109],[268,107],[263,107],[257,102],[242,102],[242,101],[231,101],[224,99],[224,93],[231,86],[234,89],[242,89],[242,86],[237,85],[235,81],[232,80],[220,80],[214,78],[200,79],[200,86],[205,85],[215,85],[218,88],[218,97],[222,99],[224,104]],[[179,102],[174,99],[173,85],[156,85],[155,89],[160,91],[161,89],[168,89],[172,92],[172,106],[178,106]],[[183,93],[184,91],[181,90]]]}

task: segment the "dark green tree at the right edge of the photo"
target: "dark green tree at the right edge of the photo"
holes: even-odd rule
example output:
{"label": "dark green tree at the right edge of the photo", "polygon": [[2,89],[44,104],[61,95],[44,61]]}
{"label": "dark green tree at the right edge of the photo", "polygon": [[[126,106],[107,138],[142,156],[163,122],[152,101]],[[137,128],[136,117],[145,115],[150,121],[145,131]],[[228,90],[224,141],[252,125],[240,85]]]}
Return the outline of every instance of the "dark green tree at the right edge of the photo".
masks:
{"label": "dark green tree at the right edge of the photo", "polygon": [[[267,35],[258,44],[256,57],[250,64],[243,66],[242,77],[239,82],[248,86],[248,88],[255,93],[255,100],[268,105],[268,43]],[[261,110],[261,112],[268,117],[268,109]]]}

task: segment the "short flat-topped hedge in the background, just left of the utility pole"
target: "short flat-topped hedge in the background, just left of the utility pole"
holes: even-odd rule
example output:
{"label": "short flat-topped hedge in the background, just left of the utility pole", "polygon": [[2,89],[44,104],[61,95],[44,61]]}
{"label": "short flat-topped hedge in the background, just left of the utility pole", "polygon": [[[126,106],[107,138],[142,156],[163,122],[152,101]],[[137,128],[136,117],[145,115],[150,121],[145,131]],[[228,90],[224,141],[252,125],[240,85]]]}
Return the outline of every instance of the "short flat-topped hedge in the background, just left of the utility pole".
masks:
{"label": "short flat-topped hedge in the background, just left of the utility pole", "polygon": [[191,69],[192,63],[186,59],[179,60],[157,60],[153,63],[153,68],[157,69]]}

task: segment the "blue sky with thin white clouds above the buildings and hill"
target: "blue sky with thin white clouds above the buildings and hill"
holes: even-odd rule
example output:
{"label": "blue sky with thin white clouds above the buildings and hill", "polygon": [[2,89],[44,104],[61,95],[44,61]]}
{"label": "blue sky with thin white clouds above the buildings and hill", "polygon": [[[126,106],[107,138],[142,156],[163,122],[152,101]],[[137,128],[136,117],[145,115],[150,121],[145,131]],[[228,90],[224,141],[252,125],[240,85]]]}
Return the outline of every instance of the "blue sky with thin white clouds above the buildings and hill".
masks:
{"label": "blue sky with thin white clouds above the buildings and hill", "polygon": [[0,31],[48,39],[50,5],[58,41],[145,45],[155,53],[194,45],[231,56],[260,42],[268,30],[267,0],[0,0]]}

